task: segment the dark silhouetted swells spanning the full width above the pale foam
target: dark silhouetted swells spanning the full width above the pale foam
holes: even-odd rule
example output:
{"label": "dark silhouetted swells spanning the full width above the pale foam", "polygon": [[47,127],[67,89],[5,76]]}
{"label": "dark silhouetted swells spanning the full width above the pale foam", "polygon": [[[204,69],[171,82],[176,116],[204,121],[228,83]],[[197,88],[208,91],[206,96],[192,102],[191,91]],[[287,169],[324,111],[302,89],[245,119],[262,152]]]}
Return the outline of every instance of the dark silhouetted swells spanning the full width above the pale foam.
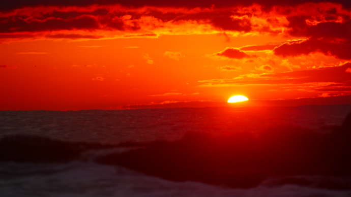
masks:
{"label": "dark silhouetted swells spanning the full width above the pale foam", "polygon": [[[329,133],[276,127],[260,134],[188,133],[174,142],[125,143],[119,146],[73,143],[37,136],[7,136],[0,140],[0,161],[68,162],[82,160],[90,150],[142,147],[94,158],[172,181],[198,181],[235,188],[298,184],[351,189],[351,113]],[[337,177],[315,181],[301,175]],[[299,177],[300,176],[300,177]]]}

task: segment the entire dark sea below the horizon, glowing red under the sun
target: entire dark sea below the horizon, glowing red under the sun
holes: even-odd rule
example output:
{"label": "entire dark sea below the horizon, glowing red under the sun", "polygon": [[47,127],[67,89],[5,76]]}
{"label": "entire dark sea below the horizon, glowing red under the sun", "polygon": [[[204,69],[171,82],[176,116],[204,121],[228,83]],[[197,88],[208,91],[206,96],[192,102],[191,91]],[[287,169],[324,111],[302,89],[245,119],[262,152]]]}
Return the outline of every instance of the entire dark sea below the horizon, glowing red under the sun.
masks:
{"label": "entire dark sea below the horizon, glowing red under the sun", "polygon": [[0,196],[351,196],[350,111],[2,111]]}

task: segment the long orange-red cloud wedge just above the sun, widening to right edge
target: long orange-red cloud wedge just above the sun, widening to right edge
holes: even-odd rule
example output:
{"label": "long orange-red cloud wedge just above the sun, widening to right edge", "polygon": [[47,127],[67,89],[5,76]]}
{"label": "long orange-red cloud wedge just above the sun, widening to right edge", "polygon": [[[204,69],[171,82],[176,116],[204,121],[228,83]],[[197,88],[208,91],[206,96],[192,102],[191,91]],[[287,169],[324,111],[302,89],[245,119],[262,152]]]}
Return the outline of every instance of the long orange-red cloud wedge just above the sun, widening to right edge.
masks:
{"label": "long orange-red cloud wedge just above the sun, widening to right edge", "polygon": [[318,94],[349,95],[351,73],[345,72],[347,69],[351,69],[351,63],[339,67],[264,75],[247,74],[233,79],[210,79],[199,82],[203,83],[201,86],[272,85],[275,90],[289,88]]}

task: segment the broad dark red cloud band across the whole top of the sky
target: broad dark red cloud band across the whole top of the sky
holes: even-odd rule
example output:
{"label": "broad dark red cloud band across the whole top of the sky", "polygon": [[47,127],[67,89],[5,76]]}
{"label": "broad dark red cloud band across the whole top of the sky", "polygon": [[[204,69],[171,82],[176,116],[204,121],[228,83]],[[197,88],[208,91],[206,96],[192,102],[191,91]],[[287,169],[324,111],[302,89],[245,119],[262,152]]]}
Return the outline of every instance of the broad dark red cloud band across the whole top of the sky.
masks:
{"label": "broad dark red cloud band across the whole top of the sky", "polygon": [[[20,1],[3,3],[0,38],[101,39],[159,35],[271,34],[350,40],[345,0]],[[318,3],[320,2],[320,3]],[[339,3],[342,3],[343,7]],[[253,4],[255,3],[255,4]],[[1,5],[2,3],[0,3]],[[349,7],[348,7],[349,8]],[[306,13],[306,10],[309,10]],[[272,50],[273,44],[240,50]],[[239,49],[238,49],[239,50]]]}

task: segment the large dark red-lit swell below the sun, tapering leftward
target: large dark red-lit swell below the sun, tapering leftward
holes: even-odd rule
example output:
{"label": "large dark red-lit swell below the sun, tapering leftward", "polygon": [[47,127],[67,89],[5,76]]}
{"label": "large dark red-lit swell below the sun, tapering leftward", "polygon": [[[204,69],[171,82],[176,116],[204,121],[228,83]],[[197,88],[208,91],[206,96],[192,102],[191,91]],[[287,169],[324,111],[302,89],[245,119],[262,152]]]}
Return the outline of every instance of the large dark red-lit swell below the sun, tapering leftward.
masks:
{"label": "large dark red-lit swell below the sun, tapering leftward", "polygon": [[[260,134],[188,133],[176,142],[148,146],[96,161],[123,166],[172,181],[198,181],[237,188],[256,187],[269,177],[351,176],[351,114],[340,127],[322,134],[298,127],[271,128]],[[297,183],[285,179],[282,184]],[[299,182],[301,185],[313,185]],[[325,182],[316,187],[340,189]],[[342,188],[351,189],[348,182]]]}

